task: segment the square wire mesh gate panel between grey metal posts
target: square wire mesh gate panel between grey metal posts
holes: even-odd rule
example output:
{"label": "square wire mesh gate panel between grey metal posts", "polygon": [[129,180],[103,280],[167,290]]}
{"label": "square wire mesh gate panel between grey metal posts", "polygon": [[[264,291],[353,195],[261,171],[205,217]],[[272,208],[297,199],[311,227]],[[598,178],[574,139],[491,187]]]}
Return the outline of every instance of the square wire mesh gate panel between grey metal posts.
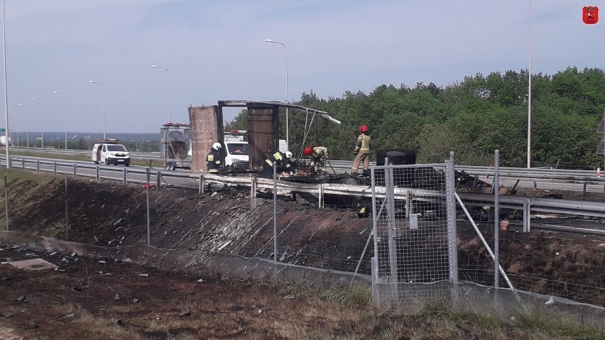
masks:
{"label": "square wire mesh gate panel between grey metal posts", "polygon": [[453,259],[446,174],[432,165],[373,168],[378,305],[420,308],[449,299]]}

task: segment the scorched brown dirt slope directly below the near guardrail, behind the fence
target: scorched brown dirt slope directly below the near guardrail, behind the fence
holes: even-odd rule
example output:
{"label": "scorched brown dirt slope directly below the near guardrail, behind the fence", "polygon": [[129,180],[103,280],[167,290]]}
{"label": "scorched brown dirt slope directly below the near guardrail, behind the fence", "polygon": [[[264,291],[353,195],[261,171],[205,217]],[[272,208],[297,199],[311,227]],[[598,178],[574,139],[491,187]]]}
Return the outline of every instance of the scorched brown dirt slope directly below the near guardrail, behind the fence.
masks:
{"label": "scorched brown dirt slope directly below the near guardrail, behind the fence", "polygon": [[[69,180],[66,231],[65,179],[16,170],[11,176],[11,230],[116,248],[147,243],[142,185]],[[271,197],[251,199],[248,188],[205,194],[154,188],[149,195],[151,245],[192,251],[189,265],[217,252],[273,258]],[[3,217],[0,226],[6,225]],[[460,278],[491,285],[493,262],[486,249],[469,225],[459,221],[458,229]],[[490,230],[486,238],[493,244]],[[352,272],[370,231],[371,219],[358,218],[354,209],[278,202],[278,258],[283,262]],[[501,265],[516,288],[605,306],[603,238],[540,231],[511,231],[500,238]],[[373,248],[364,256],[361,273],[371,273]]]}

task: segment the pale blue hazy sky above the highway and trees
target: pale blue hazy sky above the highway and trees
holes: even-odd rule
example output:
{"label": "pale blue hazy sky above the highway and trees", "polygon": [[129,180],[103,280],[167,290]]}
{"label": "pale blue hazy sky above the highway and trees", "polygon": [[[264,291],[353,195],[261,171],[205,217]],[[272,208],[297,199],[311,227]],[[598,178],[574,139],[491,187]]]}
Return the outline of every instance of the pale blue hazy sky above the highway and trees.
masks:
{"label": "pale blue hazy sky above the highway and trees", "polygon": [[[290,100],[528,68],[528,0],[4,1],[13,131],[102,132],[105,114],[108,132],[153,132],[169,106],[187,122],[190,105],[283,101],[285,49],[266,38],[288,50]],[[531,1],[533,73],[605,68],[587,5]]]}

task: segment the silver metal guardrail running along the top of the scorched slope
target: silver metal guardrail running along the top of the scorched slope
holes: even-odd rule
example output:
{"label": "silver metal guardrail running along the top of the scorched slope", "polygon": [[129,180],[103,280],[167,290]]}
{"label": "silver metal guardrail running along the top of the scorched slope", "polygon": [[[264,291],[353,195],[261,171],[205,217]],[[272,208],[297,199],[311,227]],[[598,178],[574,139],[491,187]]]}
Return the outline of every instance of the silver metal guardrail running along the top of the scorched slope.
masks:
{"label": "silver metal guardrail running along the top of the scorched slope", "polygon": [[[0,166],[6,164],[5,158],[0,157]],[[346,163],[342,163],[346,165]],[[36,172],[52,172],[55,175],[64,174],[72,177],[89,177],[97,181],[111,180],[121,182],[124,185],[128,183],[145,183],[147,175],[150,176],[150,182],[157,187],[182,187],[187,189],[197,189],[204,192],[208,183],[217,185],[237,186],[244,185],[251,188],[251,195],[256,196],[256,190],[273,190],[273,180],[259,178],[253,175],[241,177],[226,175],[197,174],[184,171],[163,171],[160,169],[140,168],[140,167],[117,167],[111,165],[92,165],[86,163],[65,163],[56,161],[46,161],[30,158],[12,158],[13,168],[23,170],[33,170]],[[434,167],[437,170],[438,166]],[[370,197],[371,187],[368,185],[344,185],[333,183],[311,184],[278,181],[278,192],[306,192],[317,197],[320,207],[324,206],[325,194],[339,194],[356,197]],[[381,190],[378,189],[378,194]],[[408,192],[413,192],[416,196],[420,194],[418,190],[408,190],[397,188],[397,199],[405,200]],[[423,195],[420,195],[423,196]],[[471,192],[459,192],[464,204],[474,206],[493,205],[494,196],[491,194],[479,194]],[[415,197],[416,199],[417,197]],[[430,199],[430,194],[425,198]],[[605,218],[605,202],[586,202],[569,199],[552,199],[536,197],[518,197],[509,195],[500,195],[499,203],[501,207],[510,209],[531,209],[536,212],[572,214],[583,216],[594,216]]]}

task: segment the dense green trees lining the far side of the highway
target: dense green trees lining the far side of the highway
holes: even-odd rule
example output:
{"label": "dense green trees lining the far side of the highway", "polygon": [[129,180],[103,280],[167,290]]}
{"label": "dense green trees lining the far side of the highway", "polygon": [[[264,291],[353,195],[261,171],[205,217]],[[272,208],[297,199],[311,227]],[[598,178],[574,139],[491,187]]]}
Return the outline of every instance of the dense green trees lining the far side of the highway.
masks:
{"label": "dense green trees lining the far side of the highway", "polygon": [[[567,67],[555,75],[532,75],[531,166],[592,169],[603,165],[596,133],[605,110],[605,73],[598,68]],[[290,150],[326,146],[329,158],[353,159],[359,126],[370,128],[374,160],[377,150],[415,150],[418,163],[442,163],[454,151],[460,165],[487,166],[500,152],[500,164],[527,166],[528,72],[491,72],[437,87],[380,85],[370,94],[345,92],[320,99],[303,93],[300,106],[327,111],[342,124],[290,110]],[[227,124],[246,128],[246,110]],[[285,138],[285,113],[280,113]],[[307,140],[302,143],[304,136]]]}

